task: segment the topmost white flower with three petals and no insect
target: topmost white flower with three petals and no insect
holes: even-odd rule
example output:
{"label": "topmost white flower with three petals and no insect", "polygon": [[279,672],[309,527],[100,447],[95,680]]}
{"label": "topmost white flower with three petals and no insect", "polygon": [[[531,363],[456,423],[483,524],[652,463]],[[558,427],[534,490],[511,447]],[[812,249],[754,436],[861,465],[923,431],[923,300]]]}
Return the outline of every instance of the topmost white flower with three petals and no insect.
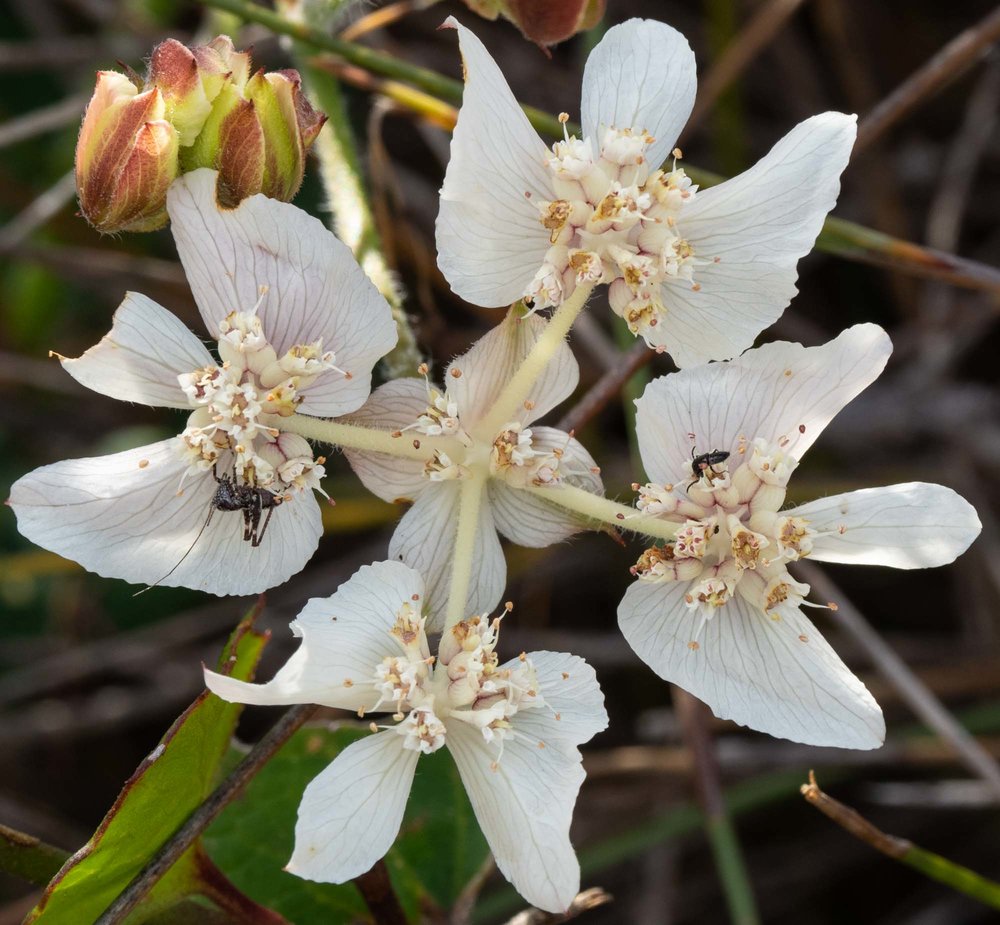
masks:
{"label": "topmost white flower with three petals and no insect", "polygon": [[855,117],[808,119],[746,173],[699,191],[668,160],[695,97],[694,55],[670,26],[608,30],[583,74],[583,138],[549,150],[482,43],[446,25],[466,85],[437,246],[458,295],[544,307],[604,282],[632,333],[682,367],[736,356],[781,315],[837,201]]}

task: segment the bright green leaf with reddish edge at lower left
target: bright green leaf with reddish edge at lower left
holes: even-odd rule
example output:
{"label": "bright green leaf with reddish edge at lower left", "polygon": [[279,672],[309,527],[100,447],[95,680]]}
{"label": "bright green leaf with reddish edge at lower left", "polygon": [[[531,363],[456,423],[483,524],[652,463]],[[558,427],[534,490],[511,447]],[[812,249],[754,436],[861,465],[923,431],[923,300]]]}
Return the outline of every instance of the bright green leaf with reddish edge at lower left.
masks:
{"label": "bright green leaf with reddish edge at lower left", "polygon": [[[253,629],[258,612],[259,605],[233,633],[220,671],[252,677],[267,641]],[[242,709],[207,691],[201,694],[129,778],[90,841],[56,874],[25,925],[94,921],[211,793]],[[146,912],[193,888],[196,869],[189,851],[147,898]]]}

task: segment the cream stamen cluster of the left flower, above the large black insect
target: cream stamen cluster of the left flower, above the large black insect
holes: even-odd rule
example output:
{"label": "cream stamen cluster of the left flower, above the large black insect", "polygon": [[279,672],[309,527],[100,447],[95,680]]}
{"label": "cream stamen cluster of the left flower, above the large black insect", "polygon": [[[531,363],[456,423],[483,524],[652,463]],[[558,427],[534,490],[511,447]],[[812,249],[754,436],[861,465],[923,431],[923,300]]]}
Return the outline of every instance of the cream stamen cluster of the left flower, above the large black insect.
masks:
{"label": "cream stamen cluster of the left flower, above the large black insect", "polygon": [[230,312],[219,325],[220,364],[178,376],[195,409],[179,437],[190,471],[203,472],[229,459],[245,485],[288,495],[319,489],[323,458],[314,458],[301,437],[267,426],[263,415],[295,413],[303,392],[335,371],[334,355],[322,341],[296,344],[282,357],[268,342],[256,308]]}

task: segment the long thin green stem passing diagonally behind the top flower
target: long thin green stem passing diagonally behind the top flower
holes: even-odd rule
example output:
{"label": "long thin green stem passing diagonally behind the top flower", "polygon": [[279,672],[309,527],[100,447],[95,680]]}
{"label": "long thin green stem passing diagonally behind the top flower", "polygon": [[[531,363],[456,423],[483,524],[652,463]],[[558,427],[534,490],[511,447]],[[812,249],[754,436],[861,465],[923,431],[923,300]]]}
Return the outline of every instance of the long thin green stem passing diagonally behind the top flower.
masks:
{"label": "long thin green stem passing diagonally behind the top flower", "polygon": [[[332,52],[372,74],[406,81],[411,86],[418,87],[441,100],[451,103],[461,102],[462,84],[435,71],[408,64],[363,45],[345,42],[343,39],[318,29],[311,29],[301,23],[291,22],[251,0],[202,0],[202,2],[205,6],[235,13],[247,22],[266,26],[278,35],[288,35],[313,48]],[[537,131],[552,138],[562,137],[563,125],[555,116],[531,106],[522,108]],[[579,132],[579,126],[569,124],[566,128],[570,132]],[[695,183],[703,187],[714,186],[725,179],[687,162],[684,169]],[[1000,290],[1000,271],[994,267],[921,247],[910,241],[893,238],[864,225],[841,219],[826,220],[823,231],[816,241],[816,248],[848,260],[874,263],[904,273],[942,279],[955,286]]]}

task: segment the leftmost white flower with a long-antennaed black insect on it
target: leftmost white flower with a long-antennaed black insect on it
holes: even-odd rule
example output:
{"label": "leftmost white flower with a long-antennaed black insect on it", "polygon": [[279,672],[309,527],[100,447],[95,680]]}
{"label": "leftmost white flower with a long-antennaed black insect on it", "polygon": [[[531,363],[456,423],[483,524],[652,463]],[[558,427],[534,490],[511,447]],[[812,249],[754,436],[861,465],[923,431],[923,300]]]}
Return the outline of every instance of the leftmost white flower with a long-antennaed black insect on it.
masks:
{"label": "leftmost white flower with a long-antennaed black insect on it", "polygon": [[99,344],[60,358],[104,395],[190,411],[183,433],[37,469],[10,503],[26,537],[99,575],[251,594],[298,572],[322,532],[313,489],[323,460],[282,419],[355,410],[396,333],[388,305],[319,221],[264,196],[221,209],[214,191],[214,172],[186,174],[167,207],[218,358],[136,293]]}

